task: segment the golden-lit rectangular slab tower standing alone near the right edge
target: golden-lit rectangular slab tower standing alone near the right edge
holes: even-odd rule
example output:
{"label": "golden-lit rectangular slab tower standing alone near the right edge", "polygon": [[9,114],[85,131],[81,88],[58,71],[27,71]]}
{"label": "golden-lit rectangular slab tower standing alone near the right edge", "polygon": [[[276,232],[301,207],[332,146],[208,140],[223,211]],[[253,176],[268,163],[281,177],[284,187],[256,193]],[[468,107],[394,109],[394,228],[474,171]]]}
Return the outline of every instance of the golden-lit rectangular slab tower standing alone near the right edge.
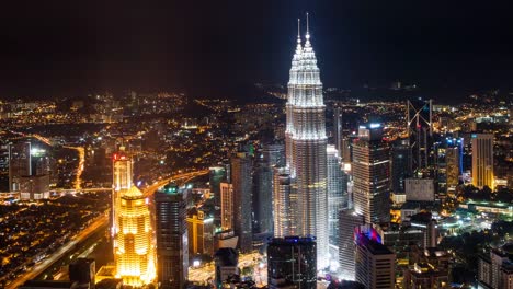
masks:
{"label": "golden-lit rectangular slab tower standing alone near the right edge", "polygon": [[493,189],[492,134],[472,134],[472,185]]}

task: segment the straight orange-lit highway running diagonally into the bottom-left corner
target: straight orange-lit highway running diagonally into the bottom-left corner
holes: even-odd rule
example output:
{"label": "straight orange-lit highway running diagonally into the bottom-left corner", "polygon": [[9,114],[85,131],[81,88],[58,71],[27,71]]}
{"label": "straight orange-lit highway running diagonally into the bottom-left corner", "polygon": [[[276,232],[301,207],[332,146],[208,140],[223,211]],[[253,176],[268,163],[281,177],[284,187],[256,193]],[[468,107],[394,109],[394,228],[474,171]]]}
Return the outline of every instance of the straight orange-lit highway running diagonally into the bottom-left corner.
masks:
{"label": "straight orange-lit highway running diagonally into the bottom-left corner", "polygon": [[42,274],[44,270],[46,270],[52,264],[56,263],[59,261],[62,255],[68,253],[70,250],[73,250],[73,247],[86,240],[89,235],[94,233],[96,230],[102,229],[103,227],[109,224],[109,213],[105,213],[101,217],[99,217],[93,223],[91,223],[88,228],[86,228],[83,231],[81,231],[76,238],[73,238],[71,241],[69,241],[66,245],[61,246],[59,250],[54,252],[52,255],[49,255],[46,259],[44,259],[42,263],[36,264],[34,267],[30,268],[30,271],[27,271],[25,275],[19,277],[18,279],[13,280],[12,282],[8,284],[5,286],[5,289],[15,289],[20,286],[22,286],[25,281],[30,279],[34,279],[37,277],[39,274]]}

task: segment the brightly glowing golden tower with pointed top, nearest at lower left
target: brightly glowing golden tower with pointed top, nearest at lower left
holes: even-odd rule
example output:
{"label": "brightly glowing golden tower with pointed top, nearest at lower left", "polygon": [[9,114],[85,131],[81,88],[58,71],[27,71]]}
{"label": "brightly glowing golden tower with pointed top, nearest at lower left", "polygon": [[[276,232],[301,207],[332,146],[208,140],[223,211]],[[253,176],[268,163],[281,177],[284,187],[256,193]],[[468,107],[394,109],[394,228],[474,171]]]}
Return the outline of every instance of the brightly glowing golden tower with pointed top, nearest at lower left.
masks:
{"label": "brightly glowing golden tower with pointed top, nearest at lower left", "polygon": [[153,231],[148,201],[136,186],[121,197],[117,218],[116,277],[134,287],[150,284],[156,277]]}

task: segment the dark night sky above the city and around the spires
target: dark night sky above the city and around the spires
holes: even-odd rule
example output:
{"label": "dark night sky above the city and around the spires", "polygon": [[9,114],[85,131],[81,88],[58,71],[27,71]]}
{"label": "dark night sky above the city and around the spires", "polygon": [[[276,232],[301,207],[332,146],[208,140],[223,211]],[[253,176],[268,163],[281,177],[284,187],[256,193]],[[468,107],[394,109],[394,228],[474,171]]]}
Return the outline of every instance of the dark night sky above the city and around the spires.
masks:
{"label": "dark night sky above the city and around the spires", "polygon": [[509,1],[147,2],[2,3],[0,97],[126,89],[218,97],[286,83],[306,11],[324,86],[401,80],[446,95],[513,86]]}

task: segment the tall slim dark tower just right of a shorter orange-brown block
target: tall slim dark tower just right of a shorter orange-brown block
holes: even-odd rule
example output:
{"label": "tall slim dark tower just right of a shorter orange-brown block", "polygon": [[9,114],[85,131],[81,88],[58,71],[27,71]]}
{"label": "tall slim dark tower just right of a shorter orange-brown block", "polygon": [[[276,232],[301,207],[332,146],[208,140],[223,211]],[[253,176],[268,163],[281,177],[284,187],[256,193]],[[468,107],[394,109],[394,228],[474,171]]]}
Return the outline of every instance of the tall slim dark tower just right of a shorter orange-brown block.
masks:
{"label": "tall slim dark tower just right of a shorter orange-brown block", "polygon": [[239,248],[242,253],[251,252],[253,247],[251,169],[251,159],[246,153],[238,153],[231,158],[233,232],[239,236]]}

